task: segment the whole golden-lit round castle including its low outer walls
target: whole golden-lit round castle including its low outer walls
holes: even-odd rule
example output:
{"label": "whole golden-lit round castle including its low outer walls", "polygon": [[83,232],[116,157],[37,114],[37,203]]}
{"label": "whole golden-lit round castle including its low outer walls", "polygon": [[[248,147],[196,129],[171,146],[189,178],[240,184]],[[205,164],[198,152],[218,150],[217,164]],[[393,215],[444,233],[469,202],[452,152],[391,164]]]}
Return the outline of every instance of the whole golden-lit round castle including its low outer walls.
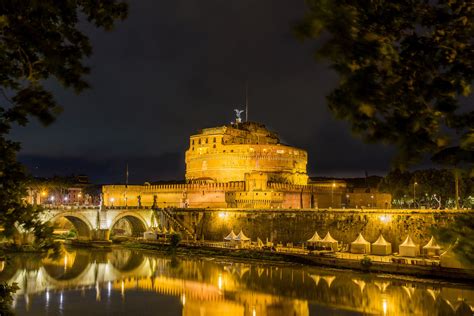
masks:
{"label": "whole golden-lit round castle including its low outer walls", "polygon": [[374,207],[390,203],[387,195],[349,193],[344,181],[310,181],[306,151],[282,144],[260,123],[237,119],[202,129],[190,137],[185,162],[184,183],[106,185],[105,205],[312,209],[349,206],[369,196]]}

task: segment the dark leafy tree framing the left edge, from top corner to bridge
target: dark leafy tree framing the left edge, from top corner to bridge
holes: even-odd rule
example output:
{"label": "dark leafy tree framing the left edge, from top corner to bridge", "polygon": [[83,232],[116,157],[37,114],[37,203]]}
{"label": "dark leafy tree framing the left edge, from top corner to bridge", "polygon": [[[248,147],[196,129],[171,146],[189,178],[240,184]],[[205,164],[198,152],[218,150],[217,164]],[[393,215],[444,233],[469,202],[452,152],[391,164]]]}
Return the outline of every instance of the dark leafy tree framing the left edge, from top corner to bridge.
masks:
{"label": "dark leafy tree framing the left edge, from top corner to bridge", "polygon": [[56,81],[80,93],[89,85],[84,65],[92,53],[80,23],[110,30],[127,15],[118,0],[28,1],[0,3],[0,226],[11,236],[32,231],[39,247],[51,246],[51,227],[41,223],[42,209],[28,205],[25,171],[16,159],[20,144],[8,139],[14,124],[34,117],[48,125],[61,106],[44,83]]}

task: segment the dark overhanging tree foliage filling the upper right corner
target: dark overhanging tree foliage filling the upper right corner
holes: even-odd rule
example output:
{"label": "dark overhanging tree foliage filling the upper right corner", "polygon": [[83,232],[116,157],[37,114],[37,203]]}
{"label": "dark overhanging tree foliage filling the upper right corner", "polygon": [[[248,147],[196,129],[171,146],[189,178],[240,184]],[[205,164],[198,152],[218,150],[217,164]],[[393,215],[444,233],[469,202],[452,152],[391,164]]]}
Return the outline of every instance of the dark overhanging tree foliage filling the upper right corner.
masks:
{"label": "dark overhanging tree foliage filling the upper right corner", "polygon": [[338,118],[368,142],[395,145],[401,167],[448,148],[472,167],[474,111],[459,102],[474,78],[472,1],[306,3],[295,31],[322,41],[316,57],[341,77],[327,98]]}

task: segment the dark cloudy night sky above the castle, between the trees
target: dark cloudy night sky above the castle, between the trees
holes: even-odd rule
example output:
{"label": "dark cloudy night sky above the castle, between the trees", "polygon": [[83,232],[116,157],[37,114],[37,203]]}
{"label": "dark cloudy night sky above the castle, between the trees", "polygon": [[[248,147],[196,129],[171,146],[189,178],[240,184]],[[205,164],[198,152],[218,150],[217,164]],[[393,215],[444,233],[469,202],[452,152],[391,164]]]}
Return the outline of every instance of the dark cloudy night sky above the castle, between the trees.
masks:
{"label": "dark cloudy night sky above the castle, between the trees", "polygon": [[303,0],[130,1],[112,32],[84,27],[94,53],[92,89],[54,83],[64,112],[51,126],[16,128],[20,160],[35,176],[87,174],[94,182],[183,179],[189,135],[228,124],[245,102],[249,119],[308,151],[314,176],[383,174],[393,150],[367,145],[337,121],[325,96],[337,83],[292,24]]}

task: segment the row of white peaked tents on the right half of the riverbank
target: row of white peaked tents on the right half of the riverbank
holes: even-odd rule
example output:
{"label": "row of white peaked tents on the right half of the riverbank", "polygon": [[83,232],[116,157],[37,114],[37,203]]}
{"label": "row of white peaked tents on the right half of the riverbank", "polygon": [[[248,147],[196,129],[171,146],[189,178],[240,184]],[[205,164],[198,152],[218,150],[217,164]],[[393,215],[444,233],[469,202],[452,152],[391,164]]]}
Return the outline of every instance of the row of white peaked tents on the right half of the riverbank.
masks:
{"label": "row of white peaked tents on the right half of the riverbank", "polygon": [[[327,249],[337,251],[338,242],[328,232],[324,238],[319,237],[318,232],[307,241],[308,248],[311,249]],[[434,237],[423,246],[423,254],[428,256],[439,256],[441,247]],[[351,253],[374,254],[374,255],[390,255],[392,253],[392,244],[385,240],[382,234],[373,242],[368,242],[362,234],[357,236],[356,240],[351,243]],[[399,246],[399,255],[404,257],[417,257],[420,255],[420,246],[415,244],[410,235]]]}

